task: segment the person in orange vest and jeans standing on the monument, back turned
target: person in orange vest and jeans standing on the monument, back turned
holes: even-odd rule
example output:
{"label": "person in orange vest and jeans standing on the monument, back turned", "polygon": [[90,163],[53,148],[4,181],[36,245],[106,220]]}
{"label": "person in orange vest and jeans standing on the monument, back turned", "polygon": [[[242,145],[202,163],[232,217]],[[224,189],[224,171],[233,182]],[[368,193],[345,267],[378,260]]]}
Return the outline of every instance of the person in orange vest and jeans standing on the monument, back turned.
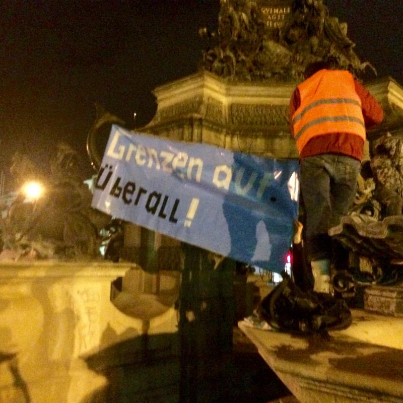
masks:
{"label": "person in orange vest and jeans standing on the monument, back turned", "polygon": [[[340,68],[339,68],[340,69]],[[383,119],[380,104],[347,70],[312,63],[290,99],[291,132],[301,169],[307,258],[314,291],[330,291],[329,228],[353,205],[366,129]]]}

